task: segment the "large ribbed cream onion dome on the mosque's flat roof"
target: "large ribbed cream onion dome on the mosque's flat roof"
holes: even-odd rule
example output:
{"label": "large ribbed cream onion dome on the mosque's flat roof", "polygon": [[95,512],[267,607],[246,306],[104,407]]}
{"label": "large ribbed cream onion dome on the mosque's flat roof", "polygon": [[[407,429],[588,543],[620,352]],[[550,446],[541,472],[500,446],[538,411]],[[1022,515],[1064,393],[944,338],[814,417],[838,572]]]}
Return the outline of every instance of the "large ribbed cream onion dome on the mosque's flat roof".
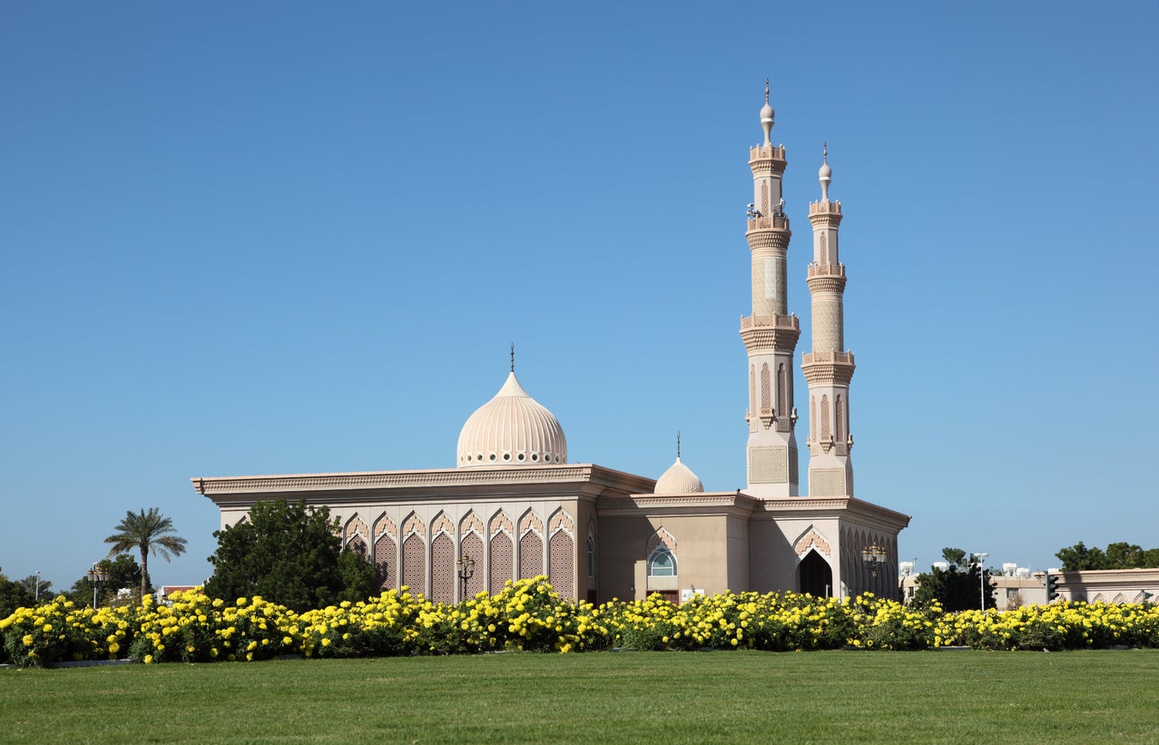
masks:
{"label": "large ribbed cream onion dome on the mosque's flat roof", "polygon": [[459,432],[460,468],[568,462],[568,440],[551,411],[527,395],[515,371]]}

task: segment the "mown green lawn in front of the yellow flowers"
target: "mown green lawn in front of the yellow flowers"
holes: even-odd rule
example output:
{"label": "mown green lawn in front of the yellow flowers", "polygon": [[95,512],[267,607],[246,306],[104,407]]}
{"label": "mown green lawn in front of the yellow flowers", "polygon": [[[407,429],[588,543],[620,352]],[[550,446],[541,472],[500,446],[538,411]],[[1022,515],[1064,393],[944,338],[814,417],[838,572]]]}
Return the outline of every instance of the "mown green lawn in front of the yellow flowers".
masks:
{"label": "mown green lawn in front of the yellow flowers", "polygon": [[1159,742],[1159,651],[593,652],[0,671],[3,742]]}

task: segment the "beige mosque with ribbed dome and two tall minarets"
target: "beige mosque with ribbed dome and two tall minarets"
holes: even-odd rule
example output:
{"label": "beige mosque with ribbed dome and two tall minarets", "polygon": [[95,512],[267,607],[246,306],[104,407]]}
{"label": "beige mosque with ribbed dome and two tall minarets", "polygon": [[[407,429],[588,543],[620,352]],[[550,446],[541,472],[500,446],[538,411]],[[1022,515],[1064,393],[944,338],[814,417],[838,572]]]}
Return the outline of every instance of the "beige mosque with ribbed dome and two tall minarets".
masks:
{"label": "beige mosque with ribbed dome and two tall minarets", "polygon": [[785,146],[770,139],[773,119],[766,81],[764,141],[749,149],[745,489],[705,491],[679,446],[657,480],[569,463],[563,428],[516,378],[512,355],[498,393],[462,425],[453,468],[195,477],[197,494],[220,509],[223,528],[243,520],[258,499],[326,505],[344,545],[379,568],[385,589],[407,585],[442,602],[537,575],[547,575],[563,597],[593,602],[654,592],[676,602],[726,590],[892,594],[897,534],[910,518],[853,496],[854,363],[844,349],[841,203],[829,198],[828,148],[821,198],[808,214],[812,338],[801,367],[809,466],[808,495],[799,494],[793,382],[801,329],[788,306],[787,161]]}

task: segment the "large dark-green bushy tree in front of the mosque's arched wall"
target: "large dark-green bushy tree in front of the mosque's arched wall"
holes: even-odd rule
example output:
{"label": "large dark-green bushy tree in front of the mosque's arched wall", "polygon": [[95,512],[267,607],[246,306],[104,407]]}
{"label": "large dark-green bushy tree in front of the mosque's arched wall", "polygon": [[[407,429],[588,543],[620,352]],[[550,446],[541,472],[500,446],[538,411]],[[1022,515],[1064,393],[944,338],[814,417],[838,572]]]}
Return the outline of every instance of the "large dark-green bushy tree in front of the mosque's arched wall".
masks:
{"label": "large dark-green bushy tree in front of the mosque's arched wall", "polygon": [[223,600],[256,594],[299,613],[377,594],[373,567],[343,552],[337,533],[326,506],[257,502],[248,519],[213,533],[218,549],[205,593]]}

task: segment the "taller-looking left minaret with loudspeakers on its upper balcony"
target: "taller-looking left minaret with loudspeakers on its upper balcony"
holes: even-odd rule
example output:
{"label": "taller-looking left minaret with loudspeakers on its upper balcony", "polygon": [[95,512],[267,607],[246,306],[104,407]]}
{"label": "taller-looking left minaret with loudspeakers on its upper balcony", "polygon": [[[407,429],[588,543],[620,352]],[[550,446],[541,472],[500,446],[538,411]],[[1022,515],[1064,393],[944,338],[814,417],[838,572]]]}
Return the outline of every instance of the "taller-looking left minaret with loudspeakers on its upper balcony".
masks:
{"label": "taller-looking left minaret with loudspeakers on its upper balcony", "polygon": [[741,338],[749,352],[748,494],[755,497],[797,495],[797,450],[793,428],[793,353],[801,326],[789,315],[785,253],[789,219],[785,217],[781,176],[785,146],[773,145],[773,107],[760,109],[765,141],[749,148],[753,199],[749,205],[749,251],[752,254],[752,315],[741,319]]}

